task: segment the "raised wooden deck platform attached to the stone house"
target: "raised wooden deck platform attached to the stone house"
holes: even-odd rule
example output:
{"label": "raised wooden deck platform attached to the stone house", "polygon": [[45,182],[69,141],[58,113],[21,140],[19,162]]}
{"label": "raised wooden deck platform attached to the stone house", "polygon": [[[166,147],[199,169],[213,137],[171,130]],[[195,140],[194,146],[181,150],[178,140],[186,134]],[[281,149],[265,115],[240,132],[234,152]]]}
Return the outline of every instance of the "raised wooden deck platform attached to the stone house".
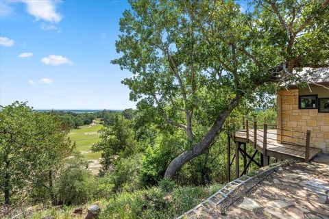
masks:
{"label": "raised wooden deck platform attached to the stone house", "polygon": [[[263,135],[264,131],[258,129],[256,136],[256,149],[260,153],[263,153]],[[247,139],[247,134],[245,129],[236,131],[235,136],[232,136],[234,142],[249,143],[254,144],[254,131],[249,130],[249,139]],[[305,160],[306,146],[300,146],[296,144],[279,143],[277,140],[277,130],[268,129],[267,130],[267,156],[276,157],[278,159],[297,159],[302,162]],[[310,148],[310,160],[321,153],[321,149]]]}

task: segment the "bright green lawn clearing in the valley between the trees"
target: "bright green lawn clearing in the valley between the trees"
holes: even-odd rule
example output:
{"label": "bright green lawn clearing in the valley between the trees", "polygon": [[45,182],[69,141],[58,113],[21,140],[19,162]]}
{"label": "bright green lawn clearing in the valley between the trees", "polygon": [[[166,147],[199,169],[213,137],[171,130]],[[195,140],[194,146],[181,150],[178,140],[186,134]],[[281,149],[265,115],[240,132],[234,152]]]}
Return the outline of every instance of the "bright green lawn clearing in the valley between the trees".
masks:
{"label": "bright green lawn clearing in the valley between the trees", "polygon": [[77,144],[77,151],[82,151],[82,155],[86,159],[99,159],[101,157],[101,153],[87,153],[91,151],[91,146],[99,140],[99,129],[101,129],[103,125],[97,124],[93,127],[89,125],[84,125],[80,127],[80,129],[72,129],[69,133],[69,138]]}

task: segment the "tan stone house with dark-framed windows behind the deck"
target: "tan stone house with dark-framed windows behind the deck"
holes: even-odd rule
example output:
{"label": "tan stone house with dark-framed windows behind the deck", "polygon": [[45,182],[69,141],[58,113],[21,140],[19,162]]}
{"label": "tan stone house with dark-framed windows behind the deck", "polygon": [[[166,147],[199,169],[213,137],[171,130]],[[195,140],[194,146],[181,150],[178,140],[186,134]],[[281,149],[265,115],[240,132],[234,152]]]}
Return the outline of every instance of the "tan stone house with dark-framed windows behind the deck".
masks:
{"label": "tan stone house with dark-framed windows behind the deck", "polygon": [[[329,69],[325,69],[329,73]],[[310,146],[329,152],[329,79],[319,74],[306,88],[288,86],[277,92],[277,129],[279,142],[305,144],[304,135],[311,130]],[[299,138],[290,138],[289,136]]]}

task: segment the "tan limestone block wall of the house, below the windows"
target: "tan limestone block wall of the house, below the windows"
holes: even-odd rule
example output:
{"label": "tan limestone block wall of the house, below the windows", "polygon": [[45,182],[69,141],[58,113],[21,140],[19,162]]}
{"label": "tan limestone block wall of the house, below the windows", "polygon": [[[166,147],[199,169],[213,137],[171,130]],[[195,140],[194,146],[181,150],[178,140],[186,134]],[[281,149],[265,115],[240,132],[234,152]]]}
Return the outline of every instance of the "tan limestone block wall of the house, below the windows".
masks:
{"label": "tan limestone block wall of the house, below the windows", "polygon": [[[300,110],[298,109],[299,90],[280,90],[277,95],[278,129],[287,129],[294,131],[311,130],[310,146],[329,152],[329,113],[319,113],[317,109]],[[294,142],[297,144],[306,144],[306,140],[289,138],[287,136],[296,136],[306,138],[305,133],[293,131],[280,131],[285,136],[278,136],[278,140]]]}

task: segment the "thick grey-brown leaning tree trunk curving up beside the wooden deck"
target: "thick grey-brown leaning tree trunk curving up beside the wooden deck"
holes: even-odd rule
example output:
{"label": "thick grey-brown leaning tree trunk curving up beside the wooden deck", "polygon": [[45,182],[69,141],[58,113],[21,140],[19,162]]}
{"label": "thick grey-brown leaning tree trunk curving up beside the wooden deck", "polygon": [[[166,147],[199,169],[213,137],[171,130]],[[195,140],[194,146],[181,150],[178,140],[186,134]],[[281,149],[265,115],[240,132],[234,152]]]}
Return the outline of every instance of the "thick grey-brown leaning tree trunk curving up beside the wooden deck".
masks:
{"label": "thick grey-brown leaning tree trunk curving up beside the wooden deck", "polygon": [[206,133],[206,136],[189,151],[184,151],[178,157],[175,157],[167,167],[166,172],[164,173],[164,178],[172,179],[175,172],[182,167],[186,162],[189,162],[191,159],[202,155],[210,147],[211,143],[215,140],[218,133],[221,132],[221,129],[225,123],[226,118],[230,116],[230,113],[239,103],[239,96],[236,96],[230,103],[228,110],[224,111],[212,125],[211,129]]}

